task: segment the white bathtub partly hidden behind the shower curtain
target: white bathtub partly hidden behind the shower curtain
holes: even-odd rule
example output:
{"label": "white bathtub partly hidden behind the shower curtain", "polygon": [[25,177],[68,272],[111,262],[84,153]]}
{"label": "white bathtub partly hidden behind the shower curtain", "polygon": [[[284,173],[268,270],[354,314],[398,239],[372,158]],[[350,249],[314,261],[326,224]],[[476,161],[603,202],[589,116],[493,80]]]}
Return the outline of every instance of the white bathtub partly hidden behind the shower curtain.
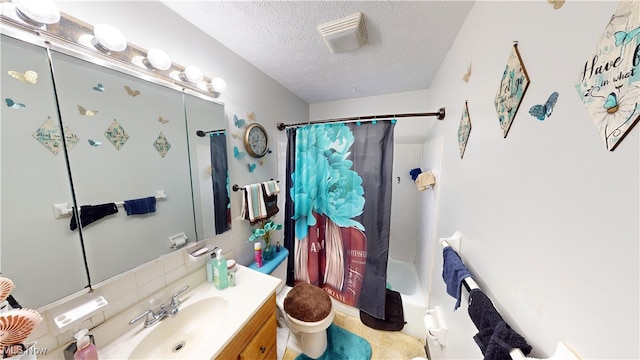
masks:
{"label": "white bathtub partly hidden behind the shower curtain", "polygon": [[[402,297],[402,311],[404,321],[407,323],[402,328],[402,332],[420,339],[426,336],[424,327],[424,314],[427,310],[427,303],[422,295],[418,273],[413,263],[389,259],[387,263],[387,283],[392,290],[400,293]],[[360,310],[353,306],[345,305],[339,301],[334,301],[333,306],[336,311],[360,318]]]}

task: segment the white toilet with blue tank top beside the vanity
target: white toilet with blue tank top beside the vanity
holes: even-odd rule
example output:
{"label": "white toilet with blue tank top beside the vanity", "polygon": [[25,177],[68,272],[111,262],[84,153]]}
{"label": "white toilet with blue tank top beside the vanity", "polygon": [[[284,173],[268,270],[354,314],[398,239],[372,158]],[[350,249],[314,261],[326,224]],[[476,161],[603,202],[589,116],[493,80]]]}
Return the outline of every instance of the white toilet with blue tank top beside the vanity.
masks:
{"label": "white toilet with blue tank top beside the vanity", "polygon": [[[286,325],[286,327],[289,328],[290,333],[293,335],[289,337],[287,346],[292,350],[304,353],[308,357],[318,358],[324,353],[327,348],[327,328],[333,323],[333,319],[335,317],[333,299],[331,299],[329,295],[324,292],[324,290],[316,288],[323,293],[322,296],[326,295],[326,297],[330,301],[330,310],[328,311],[326,317],[318,321],[303,321],[297,319],[292,315],[289,315],[285,311],[285,300],[287,300],[287,296],[289,295],[289,292],[293,290],[293,288],[285,285],[287,280],[288,257],[289,252],[287,251],[287,249],[282,248],[280,252],[276,253],[276,256],[272,260],[266,261],[262,267],[256,267],[256,263],[254,262],[249,265],[249,268],[265,274],[269,274],[281,280],[280,286],[276,289],[276,305],[278,307],[278,320],[284,321],[286,324],[283,325]],[[296,288],[296,291],[294,291],[294,293],[292,294],[296,294],[302,291],[299,288]],[[306,288],[303,290],[312,291]],[[286,301],[289,305],[288,308],[291,307],[291,304],[295,302],[295,300],[296,299],[293,296],[289,296],[288,300]]]}

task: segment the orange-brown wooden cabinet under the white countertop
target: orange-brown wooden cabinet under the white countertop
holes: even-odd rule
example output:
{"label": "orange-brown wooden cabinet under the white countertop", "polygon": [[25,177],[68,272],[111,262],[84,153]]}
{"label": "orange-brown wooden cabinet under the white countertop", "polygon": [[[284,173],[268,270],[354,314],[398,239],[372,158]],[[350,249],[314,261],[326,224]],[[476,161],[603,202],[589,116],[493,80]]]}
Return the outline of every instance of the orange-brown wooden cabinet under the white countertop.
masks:
{"label": "orange-brown wooden cabinet under the white countertop", "polygon": [[276,337],[274,293],[215,359],[276,359]]}

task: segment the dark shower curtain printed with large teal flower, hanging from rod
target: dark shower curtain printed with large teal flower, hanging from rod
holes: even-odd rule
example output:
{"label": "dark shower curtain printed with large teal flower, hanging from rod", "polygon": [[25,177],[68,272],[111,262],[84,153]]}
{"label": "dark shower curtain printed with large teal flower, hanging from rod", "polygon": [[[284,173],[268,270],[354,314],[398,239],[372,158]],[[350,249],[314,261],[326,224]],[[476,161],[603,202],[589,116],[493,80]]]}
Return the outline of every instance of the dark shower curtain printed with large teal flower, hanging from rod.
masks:
{"label": "dark shower curtain printed with large teal flower, hanging from rod", "polygon": [[287,129],[287,283],[314,284],[381,319],[394,126],[373,121]]}

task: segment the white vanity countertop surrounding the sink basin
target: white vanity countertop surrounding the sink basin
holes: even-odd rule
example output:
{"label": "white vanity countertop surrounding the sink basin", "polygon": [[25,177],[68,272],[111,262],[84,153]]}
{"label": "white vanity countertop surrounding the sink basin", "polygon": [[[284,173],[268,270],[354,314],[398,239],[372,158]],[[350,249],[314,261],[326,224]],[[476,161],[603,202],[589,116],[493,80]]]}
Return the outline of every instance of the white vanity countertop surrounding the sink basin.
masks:
{"label": "white vanity countertop surrounding the sink basin", "polygon": [[[207,352],[210,349],[211,353],[203,354],[203,358],[214,358],[224,349],[280,284],[278,278],[240,265],[237,268],[236,286],[218,290],[213,283],[205,281],[179,297],[182,301],[181,309],[209,297],[222,297],[229,300],[228,314],[224,318],[224,323],[220,324],[225,329],[224,335],[207,339]],[[179,316],[178,312],[176,317]],[[98,357],[101,360],[129,358],[135,347],[154,329],[154,326],[158,325],[144,328],[143,323],[144,319],[138,321],[137,324],[131,326],[131,330],[111,343],[98,348]],[[106,324],[101,326],[106,326]]]}

